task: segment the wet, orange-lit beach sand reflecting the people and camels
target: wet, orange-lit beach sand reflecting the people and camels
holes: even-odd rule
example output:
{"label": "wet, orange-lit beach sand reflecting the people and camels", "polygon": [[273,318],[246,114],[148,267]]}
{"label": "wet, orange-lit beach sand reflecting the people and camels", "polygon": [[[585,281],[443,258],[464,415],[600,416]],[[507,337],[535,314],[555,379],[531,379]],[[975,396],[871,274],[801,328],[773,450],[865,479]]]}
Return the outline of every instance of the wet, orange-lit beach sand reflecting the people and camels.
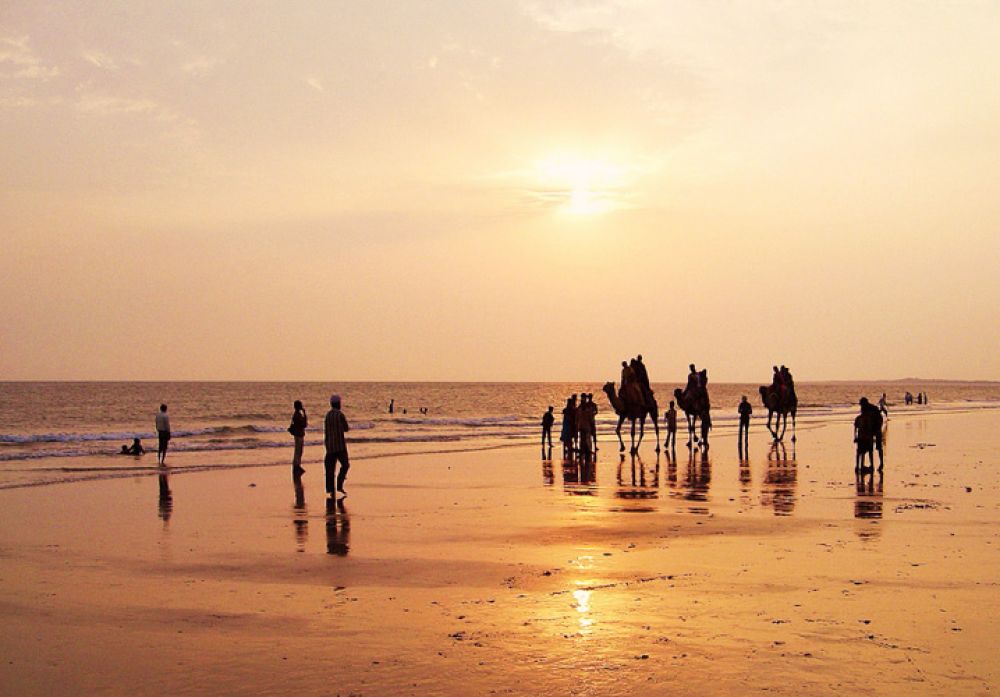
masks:
{"label": "wet, orange-lit beach sand reflecting the people and camels", "polygon": [[[990,694],[1000,411],[0,492],[9,695]],[[315,457],[317,453],[307,453]],[[168,493],[169,492],[169,493]]]}

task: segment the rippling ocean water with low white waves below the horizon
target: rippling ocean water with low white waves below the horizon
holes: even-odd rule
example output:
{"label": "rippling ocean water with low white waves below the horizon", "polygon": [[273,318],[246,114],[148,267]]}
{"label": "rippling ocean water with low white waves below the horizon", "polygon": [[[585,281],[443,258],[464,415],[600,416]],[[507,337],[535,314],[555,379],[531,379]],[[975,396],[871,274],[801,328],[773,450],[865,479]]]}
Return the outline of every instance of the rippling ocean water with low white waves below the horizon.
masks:
{"label": "rippling ocean water with low white waves below the horizon", "polygon": [[[286,429],[292,402],[309,414],[305,463],[322,457],[323,415],[332,393],[342,395],[351,431],[352,459],[498,448],[538,438],[542,413],[560,411],[573,393],[592,392],[601,441],[615,439],[617,418],[601,383],[418,382],[4,382],[0,383],[0,488],[142,476],[157,471],[155,452],[119,454],[141,438],[155,451],[153,419],[169,405],[173,439],[168,464],[175,472],[287,465]],[[654,383],[661,415],[682,384]],[[757,384],[710,383],[715,432],[734,429],[736,406],[747,395],[754,429],[766,410]],[[929,405],[902,406],[904,391],[926,392]],[[885,392],[890,414],[1000,406],[1000,383],[892,381],[797,382],[798,423],[849,419],[859,397]],[[390,400],[395,412],[388,413]],[[426,410],[422,413],[421,410]],[[647,424],[649,425],[649,424]],[[623,435],[627,440],[626,429]],[[653,448],[652,429],[648,447]],[[679,439],[683,433],[679,434]],[[643,447],[646,447],[645,445]]]}

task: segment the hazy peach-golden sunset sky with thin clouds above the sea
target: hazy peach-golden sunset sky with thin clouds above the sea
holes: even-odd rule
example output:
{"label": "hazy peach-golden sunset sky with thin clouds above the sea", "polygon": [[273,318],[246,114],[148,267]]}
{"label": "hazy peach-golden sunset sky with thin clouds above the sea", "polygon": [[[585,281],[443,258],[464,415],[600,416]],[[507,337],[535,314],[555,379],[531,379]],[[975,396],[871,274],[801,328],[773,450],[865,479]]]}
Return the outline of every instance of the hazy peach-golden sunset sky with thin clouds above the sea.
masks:
{"label": "hazy peach-golden sunset sky with thin clouds above the sea", "polygon": [[0,379],[1000,379],[1000,3],[0,4]]}

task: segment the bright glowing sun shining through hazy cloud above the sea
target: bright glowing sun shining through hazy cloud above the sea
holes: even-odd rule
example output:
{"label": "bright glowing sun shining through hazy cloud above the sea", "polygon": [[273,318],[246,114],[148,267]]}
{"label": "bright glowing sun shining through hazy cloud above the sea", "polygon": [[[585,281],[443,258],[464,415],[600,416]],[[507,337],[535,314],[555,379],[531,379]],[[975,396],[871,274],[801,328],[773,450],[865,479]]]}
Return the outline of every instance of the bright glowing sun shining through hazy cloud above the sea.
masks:
{"label": "bright glowing sun shining through hazy cloud above the sea", "polygon": [[536,177],[560,213],[589,216],[621,208],[623,167],[607,160],[554,155],[536,163]]}

